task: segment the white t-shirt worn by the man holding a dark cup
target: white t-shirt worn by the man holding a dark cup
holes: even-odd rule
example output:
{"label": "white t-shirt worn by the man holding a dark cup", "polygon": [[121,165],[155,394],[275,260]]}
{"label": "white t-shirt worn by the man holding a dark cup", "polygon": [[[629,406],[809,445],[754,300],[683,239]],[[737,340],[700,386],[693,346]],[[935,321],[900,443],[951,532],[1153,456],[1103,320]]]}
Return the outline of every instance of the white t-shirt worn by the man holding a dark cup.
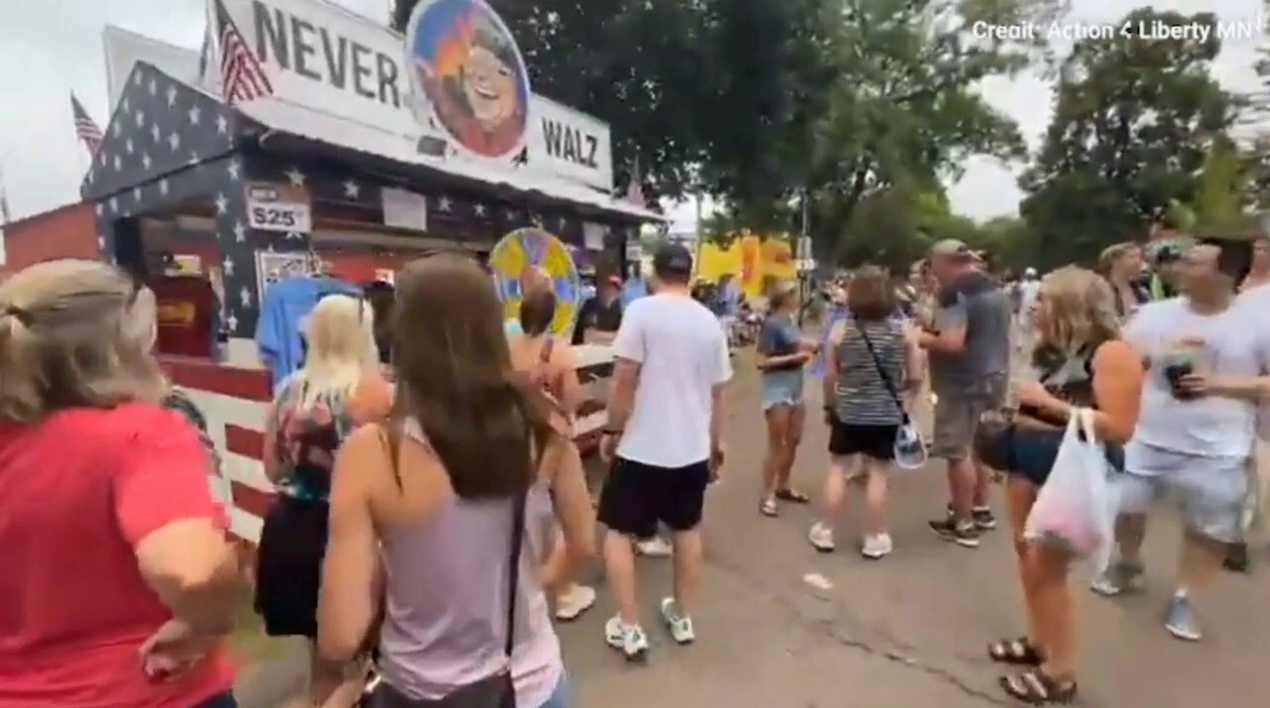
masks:
{"label": "white t-shirt worn by the man holding a dark cup", "polygon": [[1124,338],[1151,362],[1130,457],[1137,445],[1200,457],[1248,454],[1256,405],[1224,396],[1180,400],[1172,395],[1162,364],[1185,353],[1199,373],[1259,376],[1270,364],[1270,338],[1246,303],[1237,301],[1224,312],[1201,315],[1185,297],[1152,302],[1129,321]]}

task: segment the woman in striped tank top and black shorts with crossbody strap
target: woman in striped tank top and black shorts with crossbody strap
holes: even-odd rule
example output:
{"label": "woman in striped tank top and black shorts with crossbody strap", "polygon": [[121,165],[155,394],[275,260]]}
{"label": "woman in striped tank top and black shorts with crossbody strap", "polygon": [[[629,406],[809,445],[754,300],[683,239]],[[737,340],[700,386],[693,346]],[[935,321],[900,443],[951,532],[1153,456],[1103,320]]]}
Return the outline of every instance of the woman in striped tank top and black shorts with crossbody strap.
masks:
{"label": "woman in striped tank top and black shorts with crossbody strap", "polygon": [[878,560],[892,551],[886,533],[886,472],[903,423],[899,396],[921,384],[917,340],[893,316],[895,289],[885,270],[865,266],[847,285],[847,317],[829,332],[824,411],[831,426],[829,471],[820,519],[808,539],[833,551],[833,520],[842,513],[847,480],[865,476],[865,539],[861,553]]}

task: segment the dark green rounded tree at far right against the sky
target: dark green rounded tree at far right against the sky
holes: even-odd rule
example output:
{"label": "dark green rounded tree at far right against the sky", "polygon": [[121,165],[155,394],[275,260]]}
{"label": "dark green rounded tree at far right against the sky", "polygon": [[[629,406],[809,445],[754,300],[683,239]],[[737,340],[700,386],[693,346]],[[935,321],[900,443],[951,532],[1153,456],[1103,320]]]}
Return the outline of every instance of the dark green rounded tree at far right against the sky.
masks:
{"label": "dark green rounded tree at far right against the sky", "polygon": [[[1124,22],[1217,23],[1209,13],[1147,8]],[[1215,32],[1204,41],[1116,34],[1076,44],[1059,72],[1054,118],[1020,180],[1039,265],[1091,263],[1104,246],[1144,233],[1171,204],[1191,202],[1214,138],[1241,107],[1210,74],[1220,47]]]}

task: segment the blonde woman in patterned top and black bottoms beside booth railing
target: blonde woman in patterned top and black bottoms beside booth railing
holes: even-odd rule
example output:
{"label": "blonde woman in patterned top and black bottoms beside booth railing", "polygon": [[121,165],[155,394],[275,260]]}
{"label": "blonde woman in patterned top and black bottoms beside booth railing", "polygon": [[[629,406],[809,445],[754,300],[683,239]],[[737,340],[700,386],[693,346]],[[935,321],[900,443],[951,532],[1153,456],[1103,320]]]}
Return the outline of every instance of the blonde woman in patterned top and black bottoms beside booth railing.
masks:
{"label": "blonde woman in patterned top and black bottoms beside booth railing", "polygon": [[[335,450],[358,425],[386,416],[392,395],[363,299],[324,297],[304,335],[305,363],[282,383],[267,419],[264,473],[277,499],[260,532],[255,608],[271,636],[305,637],[312,650]],[[311,652],[309,705],[347,708],[358,688],[352,667]]]}

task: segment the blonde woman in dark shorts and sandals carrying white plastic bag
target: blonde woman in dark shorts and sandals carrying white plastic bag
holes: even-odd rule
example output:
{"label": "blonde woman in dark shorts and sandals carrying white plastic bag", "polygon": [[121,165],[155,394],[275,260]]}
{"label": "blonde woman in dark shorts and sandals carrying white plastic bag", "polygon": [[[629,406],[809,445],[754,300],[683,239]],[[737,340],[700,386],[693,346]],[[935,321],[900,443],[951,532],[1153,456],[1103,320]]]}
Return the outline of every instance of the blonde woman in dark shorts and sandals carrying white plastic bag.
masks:
{"label": "blonde woman in dark shorts and sandals carrying white plastic bag", "polygon": [[1097,274],[1060,268],[1041,280],[1035,310],[1035,381],[1017,386],[1019,412],[1010,436],[1006,504],[1013,529],[1019,576],[1027,604],[1029,634],[988,647],[998,662],[1031,666],[1001,679],[1002,689],[1026,703],[1071,703],[1076,697],[1076,617],[1068,587],[1072,557],[1063,548],[1024,538],[1024,524],[1045,485],[1068,416],[1093,410],[1093,428],[1113,466],[1123,467],[1123,444],[1133,434],[1142,393],[1142,359],[1120,340],[1115,296]]}

